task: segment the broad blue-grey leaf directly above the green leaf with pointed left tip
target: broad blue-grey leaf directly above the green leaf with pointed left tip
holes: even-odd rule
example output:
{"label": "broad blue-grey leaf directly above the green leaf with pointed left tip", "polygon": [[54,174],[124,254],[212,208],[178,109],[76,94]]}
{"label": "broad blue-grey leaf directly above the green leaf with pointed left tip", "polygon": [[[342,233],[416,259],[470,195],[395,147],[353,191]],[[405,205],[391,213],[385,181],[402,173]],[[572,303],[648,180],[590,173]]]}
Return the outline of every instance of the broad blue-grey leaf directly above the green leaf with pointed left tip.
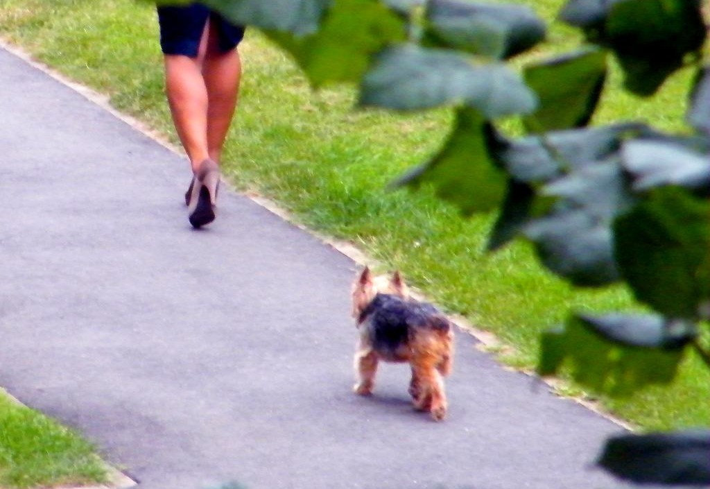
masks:
{"label": "broad blue-grey leaf directly above the green leaf with pointed left tip", "polygon": [[377,55],[360,92],[364,106],[416,110],[464,104],[488,119],[524,114],[536,103],[535,94],[504,65],[474,65],[456,51],[413,44]]}

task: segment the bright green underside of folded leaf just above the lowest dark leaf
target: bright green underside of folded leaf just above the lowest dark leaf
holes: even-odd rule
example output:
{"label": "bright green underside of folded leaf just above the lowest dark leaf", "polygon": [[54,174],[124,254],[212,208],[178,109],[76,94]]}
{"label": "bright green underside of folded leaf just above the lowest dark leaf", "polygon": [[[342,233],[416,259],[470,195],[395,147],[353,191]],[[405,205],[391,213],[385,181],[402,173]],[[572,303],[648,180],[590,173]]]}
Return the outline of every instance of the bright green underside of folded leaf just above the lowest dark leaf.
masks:
{"label": "bright green underside of folded leaf just above the lowest dark leaf", "polygon": [[574,380],[594,392],[625,397],[648,385],[674,378],[682,348],[640,348],[610,340],[599,328],[578,317],[564,329],[542,335],[540,375],[554,375],[564,365]]}

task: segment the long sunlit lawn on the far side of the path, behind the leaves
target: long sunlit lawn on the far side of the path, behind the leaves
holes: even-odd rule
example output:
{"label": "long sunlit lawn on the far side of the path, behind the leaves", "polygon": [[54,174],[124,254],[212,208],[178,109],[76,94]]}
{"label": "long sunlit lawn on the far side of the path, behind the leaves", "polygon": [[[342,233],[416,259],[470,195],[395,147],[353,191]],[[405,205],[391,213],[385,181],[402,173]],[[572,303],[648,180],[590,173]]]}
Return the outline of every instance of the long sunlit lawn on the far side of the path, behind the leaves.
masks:
{"label": "long sunlit lawn on the far side of the path, behind the leaves", "polygon": [[[527,3],[550,19],[562,1]],[[106,0],[96,9],[92,0],[0,0],[0,33],[107,93],[115,107],[176,141],[149,4]],[[577,33],[558,24],[550,38],[565,48],[579,41]],[[638,307],[621,286],[572,289],[542,270],[523,242],[483,254],[493,216],[463,220],[428,190],[384,189],[435,151],[447,132],[448,112],[406,117],[356,112],[348,88],[313,94],[288,56],[256,31],[248,33],[241,54],[244,79],[224,154],[226,173],[240,188],[275,200],[305,225],[351,240],[386,267],[401,269],[432,300],[512,345],[514,365],[534,365],[540,332],[562,321],[570,309]],[[618,90],[621,80],[615,72],[595,122],[641,119],[682,129],[689,76],[689,70],[679,72],[658,97],[644,101]],[[659,429],[710,425],[709,397],[710,373],[690,358],[670,389],[601,400],[634,424]]]}

